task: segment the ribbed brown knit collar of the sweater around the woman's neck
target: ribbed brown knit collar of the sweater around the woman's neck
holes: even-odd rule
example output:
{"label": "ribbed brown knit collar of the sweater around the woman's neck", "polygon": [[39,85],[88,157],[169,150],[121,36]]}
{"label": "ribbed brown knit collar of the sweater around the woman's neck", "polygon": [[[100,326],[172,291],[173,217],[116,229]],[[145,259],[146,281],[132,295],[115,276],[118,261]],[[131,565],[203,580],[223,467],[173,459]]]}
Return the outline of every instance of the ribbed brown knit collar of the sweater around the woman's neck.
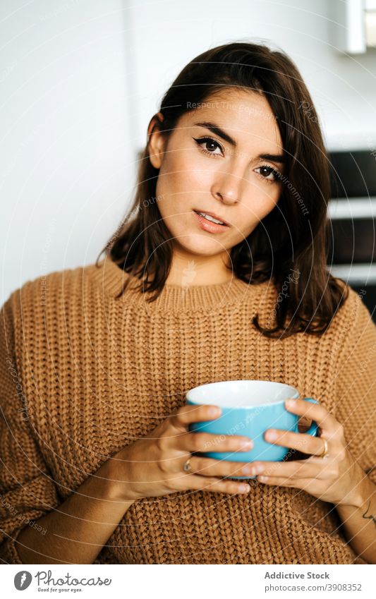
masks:
{"label": "ribbed brown knit collar of the sweater around the woman's neck", "polygon": [[188,285],[186,287],[166,283],[157,300],[147,303],[147,298],[154,295],[155,292],[143,294],[142,291],[137,291],[135,288],[140,285],[140,280],[124,272],[110,258],[104,258],[98,262],[98,267],[93,265],[91,274],[95,284],[102,288],[103,293],[112,297],[116,297],[123,289],[126,280],[130,279],[126,291],[120,298],[125,300],[131,294],[133,304],[154,305],[155,309],[162,311],[218,309],[248,301],[250,296],[260,294],[261,287],[265,291],[265,284],[250,285],[238,278],[225,283]]}

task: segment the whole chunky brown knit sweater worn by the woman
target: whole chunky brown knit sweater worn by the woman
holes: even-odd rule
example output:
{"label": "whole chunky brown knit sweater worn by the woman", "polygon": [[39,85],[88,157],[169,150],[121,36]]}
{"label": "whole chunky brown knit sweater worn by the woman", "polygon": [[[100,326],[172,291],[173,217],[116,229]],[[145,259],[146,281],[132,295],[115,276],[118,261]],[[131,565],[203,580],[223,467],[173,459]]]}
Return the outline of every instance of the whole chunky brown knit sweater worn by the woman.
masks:
{"label": "whole chunky brown knit sweater worn by the woman", "polygon": [[[322,337],[272,340],[271,284],[166,285],[154,303],[114,262],[52,272],[0,313],[0,559],[111,454],[147,435],[191,387],[286,382],[344,425],[376,482],[376,326],[355,291]],[[269,320],[270,322],[270,320]],[[270,326],[270,324],[269,324]],[[175,492],[135,502],[95,563],[352,564],[333,504],[250,480],[248,495]]]}

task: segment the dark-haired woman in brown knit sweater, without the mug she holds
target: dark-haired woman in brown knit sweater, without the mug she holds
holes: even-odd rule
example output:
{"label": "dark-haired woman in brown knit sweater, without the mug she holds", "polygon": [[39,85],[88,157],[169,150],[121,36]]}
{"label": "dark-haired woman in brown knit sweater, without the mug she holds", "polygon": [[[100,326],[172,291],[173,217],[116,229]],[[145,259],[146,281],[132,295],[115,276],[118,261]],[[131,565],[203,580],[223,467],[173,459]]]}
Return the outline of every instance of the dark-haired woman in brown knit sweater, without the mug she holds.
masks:
{"label": "dark-haired woman in brown knit sweater, without the mug she holds", "polygon": [[[3,306],[1,559],[375,563],[376,327],[327,272],[329,169],[301,75],[263,45],[210,49],[147,133],[104,260]],[[315,397],[286,409],[321,438],[267,431],[283,462],[206,458],[252,443],[188,430],[215,416],[186,391],[229,379]]]}

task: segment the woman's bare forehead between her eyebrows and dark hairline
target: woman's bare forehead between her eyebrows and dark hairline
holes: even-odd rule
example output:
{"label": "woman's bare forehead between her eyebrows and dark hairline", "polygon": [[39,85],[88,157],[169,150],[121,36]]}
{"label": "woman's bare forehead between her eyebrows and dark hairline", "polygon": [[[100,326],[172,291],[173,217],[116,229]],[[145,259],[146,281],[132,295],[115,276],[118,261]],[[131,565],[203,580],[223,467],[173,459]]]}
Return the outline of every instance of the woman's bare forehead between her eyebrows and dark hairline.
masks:
{"label": "woman's bare forehead between her eyebrows and dark hairline", "polygon": [[217,92],[205,101],[188,102],[187,105],[190,110],[183,114],[179,123],[183,128],[210,121],[229,133],[239,145],[260,145],[264,140],[269,144],[268,150],[282,147],[277,119],[265,95],[260,92],[231,88]]}

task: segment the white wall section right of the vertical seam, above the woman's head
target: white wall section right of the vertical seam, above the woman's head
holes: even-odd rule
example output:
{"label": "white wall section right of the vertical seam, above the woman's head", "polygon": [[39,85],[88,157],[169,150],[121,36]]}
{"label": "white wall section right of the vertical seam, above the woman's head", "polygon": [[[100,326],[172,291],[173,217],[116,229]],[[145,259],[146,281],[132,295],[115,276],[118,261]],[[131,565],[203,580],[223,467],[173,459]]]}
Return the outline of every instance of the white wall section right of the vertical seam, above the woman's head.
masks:
{"label": "white wall section right of the vertical seam, above the woman's head", "polygon": [[334,1],[341,0],[151,0],[147,10],[135,3],[138,144],[164,90],[188,61],[226,42],[259,41],[296,62],[328,147],[376,147],[376,49],[351,57],[336,50]]}

